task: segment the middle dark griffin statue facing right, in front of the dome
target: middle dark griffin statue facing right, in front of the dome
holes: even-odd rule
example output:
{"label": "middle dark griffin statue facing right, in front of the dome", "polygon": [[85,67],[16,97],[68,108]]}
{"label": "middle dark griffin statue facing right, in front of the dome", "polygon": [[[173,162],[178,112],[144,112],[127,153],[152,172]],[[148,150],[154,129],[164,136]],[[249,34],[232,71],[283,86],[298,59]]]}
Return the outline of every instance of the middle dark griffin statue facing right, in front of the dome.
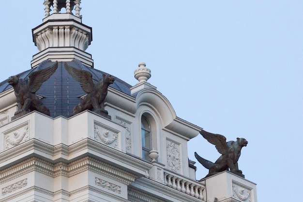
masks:
{"label": "middle dark griffin statue facing right, in front of the dome", "polygon": [[87,93],[84,99],[74,107],[73,115],[86,109],[92,110],[101,115],[102,113],[108,114],[104,109],[104,101],[107,95],[108,86],[114,83],[115,78],[111,75],[103,74],[103,78],[100,78],[99,82],[94,84],[90,72],[76,69],[75,67],[68,65],[66,62],[64,63],[64,66],[67,72],[75,78],[76,81],[80,82],[83,91]]}

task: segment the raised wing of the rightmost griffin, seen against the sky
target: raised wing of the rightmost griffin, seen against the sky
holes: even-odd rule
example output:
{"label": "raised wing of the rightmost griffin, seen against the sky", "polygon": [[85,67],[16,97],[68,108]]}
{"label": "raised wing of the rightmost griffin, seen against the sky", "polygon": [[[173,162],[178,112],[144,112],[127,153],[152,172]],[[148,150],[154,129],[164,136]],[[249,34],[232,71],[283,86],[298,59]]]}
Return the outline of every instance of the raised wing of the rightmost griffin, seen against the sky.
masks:
{"label": "raised wing of the rightmost griffin, seen against the sky", "polygon": [[226,138],[223,135],[209,133],[206,132],[205,130],[201,130],[200,134],[207,141],[215,145],[216,149],[220,154],[222,155],[227,154],[228,146],[227,146]]}

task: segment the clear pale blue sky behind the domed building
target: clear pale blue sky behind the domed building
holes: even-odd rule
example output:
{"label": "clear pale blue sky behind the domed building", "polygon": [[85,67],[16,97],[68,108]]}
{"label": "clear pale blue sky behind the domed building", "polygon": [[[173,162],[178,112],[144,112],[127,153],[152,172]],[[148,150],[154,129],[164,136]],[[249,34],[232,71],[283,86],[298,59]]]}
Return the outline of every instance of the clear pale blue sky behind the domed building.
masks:
{"label": "clear pale blue sky behind the domed building", "polygon": [[[44,0],[1,1],[0,81],[30,69],[38,53],[31,29]],[[178,117],[248,140],[239,169],[257,184],[259,202],[298,201],[303,152],[303,1],[82,0],[92,27],[86,50],[94,68],[135,85],[148,80]],[[219,153],[198,135],[188,142],[214,162]],[[197,179],[208,170],[196,163]]]}

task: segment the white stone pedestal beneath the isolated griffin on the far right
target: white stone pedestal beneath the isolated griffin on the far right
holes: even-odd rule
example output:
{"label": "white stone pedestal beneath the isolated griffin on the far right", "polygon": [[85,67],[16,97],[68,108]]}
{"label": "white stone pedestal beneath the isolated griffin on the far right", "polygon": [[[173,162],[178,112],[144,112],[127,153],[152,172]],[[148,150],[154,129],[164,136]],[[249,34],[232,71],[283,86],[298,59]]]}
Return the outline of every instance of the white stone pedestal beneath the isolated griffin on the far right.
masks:
{"label": "white stone pedestal beneath the isolated griffin on the far right", "polygon": [[204,178],[207,202],[257,202],[256,184],[229,171]]}

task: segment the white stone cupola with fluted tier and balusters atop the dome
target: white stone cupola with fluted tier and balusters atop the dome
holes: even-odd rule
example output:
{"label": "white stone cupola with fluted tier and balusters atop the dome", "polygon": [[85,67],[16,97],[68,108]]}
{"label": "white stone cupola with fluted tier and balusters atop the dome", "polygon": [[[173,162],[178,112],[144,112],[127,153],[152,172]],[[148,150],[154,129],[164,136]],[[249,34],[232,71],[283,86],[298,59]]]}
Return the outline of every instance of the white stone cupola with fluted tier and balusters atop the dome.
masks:
{"label": "white stone cupola with fluted tier and balusters atop the dome", "polygon": [[82,24],[81,0],[45,0],[45,18],[32,29],[35,46],[40,52],[33,56],[31,67],[45,60],[77,59],[93,67],[91,54],[85,52],[92,41],[91,27]]}

